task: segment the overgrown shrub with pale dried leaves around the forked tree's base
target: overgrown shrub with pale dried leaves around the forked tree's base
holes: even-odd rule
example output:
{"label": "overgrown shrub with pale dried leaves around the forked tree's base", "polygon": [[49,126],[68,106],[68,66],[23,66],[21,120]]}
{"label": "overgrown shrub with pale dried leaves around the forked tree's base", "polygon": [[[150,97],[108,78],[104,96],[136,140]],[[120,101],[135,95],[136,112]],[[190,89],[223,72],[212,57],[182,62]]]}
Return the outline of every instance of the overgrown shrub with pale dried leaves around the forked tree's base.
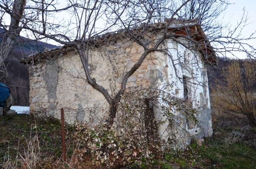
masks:
{"label": "overgrown shrub with pale dried leaves around the forked tree's base", "polygon": [[[143,168],[154,165],[155,159],[162,160],[164,153],[173,150],[173,144],[180,139],[177,136],[179,129],[173,127],[184,128],[186,118],[196,121],[196,110],[189,101],[166,93],[163,97],[161,90],[133,89],[122,95],[110,129],[104,120],[93,128],[83,122],[74,124],[74,134],[70,137],[76,140],[76,149],[70,166],[119,168],[129,165]],[[164,114],[164,119],[155,118],[156,109]],[[168,139],[161,138],[158,133],[158,125],[165,122],[169,124]]]}

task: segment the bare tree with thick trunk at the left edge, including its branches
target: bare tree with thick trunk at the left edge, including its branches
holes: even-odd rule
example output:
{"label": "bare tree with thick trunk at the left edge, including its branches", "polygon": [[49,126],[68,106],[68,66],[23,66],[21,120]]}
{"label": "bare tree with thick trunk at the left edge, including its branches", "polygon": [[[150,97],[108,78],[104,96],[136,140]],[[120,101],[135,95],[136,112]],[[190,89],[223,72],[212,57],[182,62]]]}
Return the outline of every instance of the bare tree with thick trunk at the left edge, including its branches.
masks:
{"label": "bare tree with thick trunk at the left edge, including its branches", "polygon": [[[71,7],[81,8],[77,3],[72,5],[67,4],[64,8],[57,7],[58,2],[55,0],[6,0],[0,2],[0,27],[3,29],[1,32],[3,37],[0,45],[0,80],[7,73],[7,65],[4,64],[4,61],[7,57],[10,57],[15,46],[19,43],[23,43],[23,39],[19,38],[21,30],[26,31],[24,29],[25,27],[29,27],[31,30],[40,30],[42,27],[42,32],[45,33],[46,24],[48,23],[47,17],[54,17],[52,13],[66,11]],[[48,10],[48,8],[50,9]],[[54,30],[56,27],[59,28],[62,22],[55,20],[53,24],[48,23],[48,26],[49,25],[51,25],[51,27],[47,27],[47,29]],[[29,33],[24,32],[23,34],[28,38],[34,37],[31,41],[41,39],[33,31]]]}

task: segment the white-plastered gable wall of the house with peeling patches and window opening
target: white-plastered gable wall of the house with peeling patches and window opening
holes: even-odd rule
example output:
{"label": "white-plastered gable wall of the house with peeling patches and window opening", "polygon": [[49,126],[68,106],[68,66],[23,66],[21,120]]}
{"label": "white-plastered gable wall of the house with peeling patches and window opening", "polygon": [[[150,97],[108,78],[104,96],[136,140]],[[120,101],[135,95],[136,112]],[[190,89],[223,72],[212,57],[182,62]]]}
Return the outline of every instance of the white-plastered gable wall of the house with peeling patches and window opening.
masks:
{"label": "white-plastered gable wall of the house with peeling patches and window opening", "polygon": [[[193,107],[198,110],[196,118],[198,123],[195,126],[189,126],[188,121],[182,121],[189,135],[194,135],[196,138],[204,138],[212,135],[212,119],[210,110],[210,96],[208,77],[205,67],[205,62],[201,60],[201,54],[198,51],[186,49],[184,46],[169,42],[168,49],[172,55],[173,62],[176,65],[178,77],[186,77],[188,85],[188,100],[193,104]],[[173,49],[173,50],[171,50]],[[187,59],[184,61],[184,58]],[[168,57],[167,62],[172,62]],[[177,64],[178,62],[182,65]],[[168,79],[170,84],[169,91],[177,97],[184,97],[184,84],[182,79],[177,79],[173,66],[168,67]],[[178,93],[177,93],[178,91]]]}

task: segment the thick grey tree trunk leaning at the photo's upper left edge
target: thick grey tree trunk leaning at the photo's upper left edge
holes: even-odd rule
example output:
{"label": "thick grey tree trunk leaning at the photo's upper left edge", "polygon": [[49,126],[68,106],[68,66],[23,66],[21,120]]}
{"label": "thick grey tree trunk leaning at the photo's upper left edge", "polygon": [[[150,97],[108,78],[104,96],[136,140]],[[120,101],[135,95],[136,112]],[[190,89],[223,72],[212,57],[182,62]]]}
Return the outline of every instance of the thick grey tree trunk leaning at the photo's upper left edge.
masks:
{"label": "thick grey tree trunk leaning at the photo's upper left edge", "polygon": [[15,0],[13,10],[9,13],[11,21],[8,31],[5,33],[0,46],[0,69],[4,69],[4,61],[10,54],[16,44],[16,39],[19,36],[21,27],[20,20],[24,11],[25,0]]}

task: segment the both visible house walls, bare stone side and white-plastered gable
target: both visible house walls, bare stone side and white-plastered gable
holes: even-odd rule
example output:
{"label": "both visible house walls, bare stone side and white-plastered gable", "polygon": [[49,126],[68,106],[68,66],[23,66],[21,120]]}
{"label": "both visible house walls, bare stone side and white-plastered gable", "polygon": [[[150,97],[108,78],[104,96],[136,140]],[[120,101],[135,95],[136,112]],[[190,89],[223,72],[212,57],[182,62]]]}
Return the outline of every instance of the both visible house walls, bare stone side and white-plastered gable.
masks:
{"label": "both visible house walls, bare stone side and white-plastered gable", "polygon": [[[186,132],[180,135],[194,135],[197,138],[211,136],[207,73],[200,53],[187,50],[171,40],[162,48],[168,51],[172,59],[162,52],[150,53],[129,77],[126,87],[129,89],[133,86],[150,86],[176,97],[183,97],[182,78],[186,76],[190,85],[188,99],[194,108],[201,111],[196,115],[199,121],[196,126],[188,127],[186,117],[181,121],[180,125]],[[91,48],[88,55],[91,77],[110,94],[115,93],[120,88],[124,74],[143,52],[143,47],[127,38]],[[83,66],[76,51],[36,62],[30,67],[30,111],[45,112],[47,115],[60,118],[60,108],[63,107],[66,121],[72,123],[74,120],[84,120],[97,124],[107,115],[108,104],[104,96],[93,89],[85,79]],[[156,111],[155,117],[157,120],[166,120],[161,111]],[[159,126],[162,136],[168,137],[167,126],[167,121]],[[190,142],[190,139],[186,139],[185,142]]]}

